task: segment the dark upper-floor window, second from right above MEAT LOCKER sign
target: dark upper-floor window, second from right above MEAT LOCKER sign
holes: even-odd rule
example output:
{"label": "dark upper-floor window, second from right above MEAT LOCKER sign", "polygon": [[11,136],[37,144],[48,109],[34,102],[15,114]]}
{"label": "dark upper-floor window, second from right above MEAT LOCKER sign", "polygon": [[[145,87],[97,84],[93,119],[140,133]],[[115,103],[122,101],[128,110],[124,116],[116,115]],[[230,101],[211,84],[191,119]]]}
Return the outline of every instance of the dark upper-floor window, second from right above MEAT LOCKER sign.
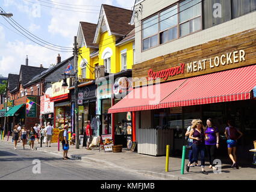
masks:
{"label": "dark upper-floor window, second from right above MEAT LOCKER sign", "polygon": [[[217,11],[217,8],[214,5],[221,5],[221,16],[214,17],[214,11]],[[227,22],[231,20],[231,1],[226,0],[207,0],[203,1],[204,8],[204,29],[210,28],[215,25],[219,25],[220,23]]]}

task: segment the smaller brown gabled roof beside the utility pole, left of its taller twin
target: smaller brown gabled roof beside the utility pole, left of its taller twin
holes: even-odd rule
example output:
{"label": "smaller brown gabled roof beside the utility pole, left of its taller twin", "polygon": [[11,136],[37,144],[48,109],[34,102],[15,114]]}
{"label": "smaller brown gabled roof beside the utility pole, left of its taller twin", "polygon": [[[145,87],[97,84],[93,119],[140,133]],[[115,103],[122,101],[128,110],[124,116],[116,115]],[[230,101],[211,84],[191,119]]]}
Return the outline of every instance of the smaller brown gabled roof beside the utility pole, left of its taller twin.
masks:
{"label": "smaller brown gabled roof beside the utility pole, left of its taller twin", "polygon": [[[97,24],[87,23],[87,22],[80,22],[80,27],[79,27],[78,30],[81,30],[81,32],[83,34],[84,41],[86,42],[87,47],[98,47],[98,44],[93,44],[93,38],[94,38],[94,35],[95,35],[95,32],[96,32],[96,28],[97,28]],[[81,35],[80,31],[78,31],[78,36],[80,36],[80,35]],[[82,39],[82,38],[78,37],[78,39]]]}

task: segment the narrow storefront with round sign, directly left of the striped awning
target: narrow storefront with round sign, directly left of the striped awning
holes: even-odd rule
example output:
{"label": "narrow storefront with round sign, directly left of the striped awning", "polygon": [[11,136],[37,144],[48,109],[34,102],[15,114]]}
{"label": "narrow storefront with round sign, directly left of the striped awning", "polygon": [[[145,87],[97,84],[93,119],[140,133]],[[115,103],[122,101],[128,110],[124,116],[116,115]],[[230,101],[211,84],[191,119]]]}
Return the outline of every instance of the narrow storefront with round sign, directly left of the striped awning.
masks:
{"label": "narrow storefront with round sign, directly left of the striped awning", "polygon": [[[122,95],[124,95],[124,92],[121,90],[122,83],[125,84],[123,86],[128,86],[126,83],[128,83],[129,77],[131,77],[131,70],[126,70],[98,79],[96,83],[98,85],[96,103],[98,114],[96,115],[98,115],[101,120],[101,127],[98,135],[112,134],[115,145],[117,145],[115,140],[115,136],[117,135],[117,143],[120,143],[120,145],[123,145],[124,147],[126,147],[125,143],[127,143],[127,138],[130,139],[131,136],[128,137],[127,134],[116,134],[116,127],[119,121],[124,124],[126,121],[126,117],[124,116],[126,115],[113,116],[111,113],[108,113],[108,110],[115,103],[120,101]],[[128,92],[127,87],[125,87],[125,91]],[[127,125],[125,124],[125,127],[126,126]]]}

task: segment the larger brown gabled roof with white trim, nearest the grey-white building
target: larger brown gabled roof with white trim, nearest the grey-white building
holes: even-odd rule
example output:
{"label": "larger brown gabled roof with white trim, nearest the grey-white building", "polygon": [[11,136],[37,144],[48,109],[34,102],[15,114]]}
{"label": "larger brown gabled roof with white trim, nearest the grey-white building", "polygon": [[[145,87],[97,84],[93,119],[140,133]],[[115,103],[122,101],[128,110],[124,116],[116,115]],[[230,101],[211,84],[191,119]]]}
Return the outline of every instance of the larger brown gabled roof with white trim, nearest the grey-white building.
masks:
{"label": "larger brown gabled roof with white trim, nearest the grey-white building", "polygon": [[102,4],[101,13],[99,15],[98,25],[93,43],[99,42],[101,25],[104,22],[107,26],[108,34],[117,35],[119,37],[128,34],[128,32],[134,29],[134,26],[129,24],[132,14],[133,11],[131,10],[126,10],[124,8]]}

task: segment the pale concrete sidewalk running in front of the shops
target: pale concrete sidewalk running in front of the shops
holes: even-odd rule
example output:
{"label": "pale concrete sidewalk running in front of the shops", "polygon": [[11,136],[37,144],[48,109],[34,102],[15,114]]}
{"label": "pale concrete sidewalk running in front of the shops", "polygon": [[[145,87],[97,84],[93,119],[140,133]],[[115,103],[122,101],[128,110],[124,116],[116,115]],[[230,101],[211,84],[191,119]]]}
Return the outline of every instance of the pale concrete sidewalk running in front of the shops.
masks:
{"label": "pale concrete sidewalk running in front of the shops", "polygon": [[[6,143],[7,137],[5,137],[4,140],[0,140],[0,143],[1,142]],[[11,137],[9,137],[8,143],[13,145]],[[59,155],[60,158],[63,155],[61,144],[60,151],[58,151],[57,143],[52,143],[51,148],[45,147],[45,144],[40,148],[37,141],[35,141],[35,143],[34,148],[37,148],[37,151]],[[22,143],[18,143],[17,149],[21,149],[21,145]],[[29,148],[29,146],[26,145],[26,148]],[[217,174],[213,173],[211,169],[208,169],[206,162],[205,170],[209,173],[208,175],[199,172],[201,167],[191,167],[189,173],[184,170],[184,175],[181,175],[181,158],[170,157],[169,172],[165,172],[166,157],[152,157],[149,155],[138,154],[137,152],[126,151],[125,149],[123,149],[122,153],[99,152],[99,148],[93,148],[90,151],[82,148],[82,146],[80,146],[80,149],[75,149],[75,146],[71,145],[68,155],[73,159],[78,159],[84,162],[92,161],[101,163],[105,166],[110,166],[110,169],[122,169],[126,172],[154,176],[155,179],[256,180],[256,166],[250,164],[248,166],[242,166],[240,169],[231,169],[231,165],[222,164],[222,173]]]}

